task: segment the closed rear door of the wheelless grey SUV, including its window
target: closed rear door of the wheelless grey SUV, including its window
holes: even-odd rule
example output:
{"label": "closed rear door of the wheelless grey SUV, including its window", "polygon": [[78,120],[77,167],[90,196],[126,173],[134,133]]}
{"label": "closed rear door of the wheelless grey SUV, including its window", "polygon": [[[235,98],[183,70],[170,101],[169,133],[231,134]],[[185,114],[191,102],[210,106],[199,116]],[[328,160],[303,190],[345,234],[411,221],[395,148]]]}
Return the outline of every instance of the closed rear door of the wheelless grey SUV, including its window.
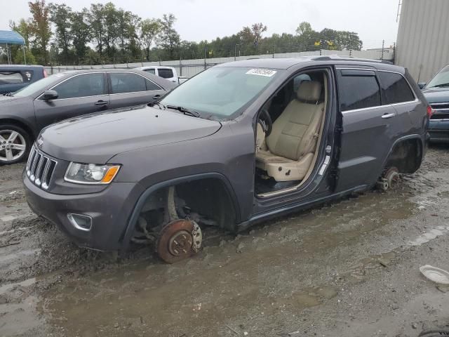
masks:
{"label": "closed rear door of the wheelless grey SUV, including its window", "polygon": [[[394,107],[382,105],[373,70],[337,70],[337,78],[342,131],[336,192],[342,192],[375,183],[393,144],[398,119]],[[354,104],[345,105],[345,100]]]}

